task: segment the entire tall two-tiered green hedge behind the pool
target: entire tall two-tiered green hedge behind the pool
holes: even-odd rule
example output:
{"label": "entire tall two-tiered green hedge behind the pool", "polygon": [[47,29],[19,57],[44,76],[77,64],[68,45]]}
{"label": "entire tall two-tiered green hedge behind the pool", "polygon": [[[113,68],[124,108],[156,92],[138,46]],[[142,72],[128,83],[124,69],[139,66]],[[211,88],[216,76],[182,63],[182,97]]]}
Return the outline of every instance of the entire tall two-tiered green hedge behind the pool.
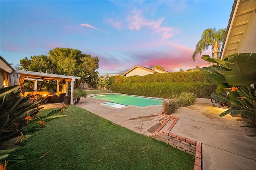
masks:
{"label": "entire tall two-tiered green hedge behind the pool", "polygon": [[168,99],[183,91],[197,97],[210,98],[218,83],[202,71],[150,74],[145,76],[116,76],[110,90],[116,93]]}

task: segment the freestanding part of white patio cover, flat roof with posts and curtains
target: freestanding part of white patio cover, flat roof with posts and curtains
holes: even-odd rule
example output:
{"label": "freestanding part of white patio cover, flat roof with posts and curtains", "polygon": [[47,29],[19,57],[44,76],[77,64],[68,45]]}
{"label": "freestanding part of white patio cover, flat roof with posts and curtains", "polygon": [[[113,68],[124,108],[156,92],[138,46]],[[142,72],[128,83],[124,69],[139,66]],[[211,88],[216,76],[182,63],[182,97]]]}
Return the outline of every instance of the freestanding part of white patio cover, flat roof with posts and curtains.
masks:
{"label": "freestanding part of white patio cover, flat roof with posts and curtains", "polygon": [[[34,81],[34,90],[37,89],[37,81],[42,81],[42,79],[48,79],[48,80],[57,80],[57,92],[60,90],[60,82],[65,81],[66,83],[71,82],[71,93],[70,93],[70,104],[73,105],[73,93],[74,93],[74,81],[76,79],[81,79],[81,77],[74,77],[74,76],[68,76],[68,75],[58,75],[58,74],[49,74],[49,73],[40,73],[40,72],[34,72],[34,71],[26,71],[26,70],[17,70],[14,69],[12,71],[12,74],[20,75],[19,77],[24,77],[24,80],[30,80]],[[66,93],[68,95],[68,93]]]}

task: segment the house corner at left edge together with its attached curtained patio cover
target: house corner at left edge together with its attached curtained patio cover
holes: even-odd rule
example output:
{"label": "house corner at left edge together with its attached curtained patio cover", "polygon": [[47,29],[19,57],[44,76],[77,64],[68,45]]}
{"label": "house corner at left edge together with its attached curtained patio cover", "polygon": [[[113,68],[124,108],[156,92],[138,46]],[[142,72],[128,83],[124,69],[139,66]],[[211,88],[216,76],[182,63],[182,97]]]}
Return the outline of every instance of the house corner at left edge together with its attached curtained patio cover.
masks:
{"label": "house corner at left edge together with its attached curtained patio cover", "polygon": [[[57,80],[57,92],[60,89],[60,83],[64,83],[62,87],[62,93],[66,93],[68,95],[68,82],[71,82],[71,95],[70,95],[70,103],[73,104],[73,93],[74,93],[74,81],[76,79],[81,79],[81,77],[67,76],[67,75],[58,75],[58,74],[48,74],[48,73],[40,73],[34,71],[26,71],[26,70],[17,70],[13,69],[10,64],[2,57],[0,63],[1,69],[1,79],[0,85],[1,87],[8,87],[12,85],[20,85],[24,83],[24,80],[34,81],[34,91],[37,90],[37,81],[41,79],[50,79]],[[41,80],[42,81],[42,80]]]}

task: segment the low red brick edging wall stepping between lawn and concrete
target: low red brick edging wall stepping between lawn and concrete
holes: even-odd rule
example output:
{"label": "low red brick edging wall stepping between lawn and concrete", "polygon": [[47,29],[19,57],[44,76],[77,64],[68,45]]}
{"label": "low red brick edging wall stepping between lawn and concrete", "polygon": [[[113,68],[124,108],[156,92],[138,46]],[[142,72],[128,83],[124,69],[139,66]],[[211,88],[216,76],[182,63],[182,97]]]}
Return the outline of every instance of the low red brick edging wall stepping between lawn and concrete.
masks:
{"label": "low red brick edging wall stepping between lawn and concrete", "polygon": [[[170,132],[177,121],[180,119],[179,117],[174,117],[171,115],[163,114],[163,111],[158,114],[159,122],[162,122],[162,125],[149,136],[156,140],[160,140],[165,142],[166,144],[170,144],[174,148],[187,152],[195,156],[194,170],[202,169],[202,143],[197,142],[195,140],[185,138],[184,136],[180,136],[178,134],[174,134]],[[160,130],[166,125],[168,121],[172,121],[172,125],[168,127],[166,131],[160,132]]]}

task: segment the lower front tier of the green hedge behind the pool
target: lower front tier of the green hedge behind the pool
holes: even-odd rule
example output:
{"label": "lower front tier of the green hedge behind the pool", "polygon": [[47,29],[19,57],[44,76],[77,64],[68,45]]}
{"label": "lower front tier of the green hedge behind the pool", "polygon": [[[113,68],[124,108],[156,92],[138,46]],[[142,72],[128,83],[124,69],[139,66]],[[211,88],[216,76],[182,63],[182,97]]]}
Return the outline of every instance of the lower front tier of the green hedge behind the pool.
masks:
{"label": "lower front tier of the green hedge behind the pool", "polygon": [[[143,77],[143,76],[141,76]],[[191,92],[196,97],[210,98],[216,91],[218,83],[183,83],[183,82],[144,82],[144,83],[112,83],[110,90],[116,93],[147,97],[170,98],[183,91]]]}

